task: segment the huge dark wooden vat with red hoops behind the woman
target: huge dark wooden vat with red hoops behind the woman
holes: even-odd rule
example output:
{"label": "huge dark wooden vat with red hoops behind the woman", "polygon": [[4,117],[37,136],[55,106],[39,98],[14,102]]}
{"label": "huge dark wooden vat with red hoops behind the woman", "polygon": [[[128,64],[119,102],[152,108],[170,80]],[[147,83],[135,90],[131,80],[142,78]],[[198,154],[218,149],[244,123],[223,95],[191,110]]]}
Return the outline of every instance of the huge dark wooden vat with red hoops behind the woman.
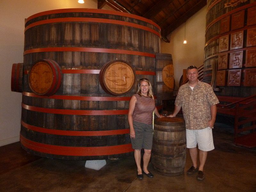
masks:
{"label": "huge dark wooden vat with red hoops behind the woman", "polygon": [[[123,12],[60,9],[26,19],[22,147],[67,160],[131,155],[129,100],[136,79],[148,78],[154,86],[160,37],[154,22]],[[60,66],[59,88],[48,87],[53,95],[32,90],[28,74],[38,60]],[[116,61],[123,65],[105,68]],[[112,83],[100,84],[100,72],[105,83]],[[114,84],[128,76],[129,86]]]}

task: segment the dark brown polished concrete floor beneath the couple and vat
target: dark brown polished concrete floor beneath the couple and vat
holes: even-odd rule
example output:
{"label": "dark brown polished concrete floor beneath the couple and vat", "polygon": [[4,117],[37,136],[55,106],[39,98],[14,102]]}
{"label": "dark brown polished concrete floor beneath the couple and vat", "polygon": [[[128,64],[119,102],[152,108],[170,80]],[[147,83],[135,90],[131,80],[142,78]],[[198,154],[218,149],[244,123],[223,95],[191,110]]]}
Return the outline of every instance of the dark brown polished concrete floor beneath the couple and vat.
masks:
{"label": "dark brown polished concrete floor beneath the couple and vat", "polygon": [[[204,181],[196,174],[164,176],[156,173],[152,164],[150,179],[136,177],[133,156],[107,160],[99,171],[85,168],[85,161],[63,161],[31,155],[20,143],[0,147],[0,191],[125,191],[125,192],[212,192],[256,191],[256,150],[233,144],[232,128],[215,124],[215,149],[208,153]],[[185,171],[191,160],[187,150]]]}

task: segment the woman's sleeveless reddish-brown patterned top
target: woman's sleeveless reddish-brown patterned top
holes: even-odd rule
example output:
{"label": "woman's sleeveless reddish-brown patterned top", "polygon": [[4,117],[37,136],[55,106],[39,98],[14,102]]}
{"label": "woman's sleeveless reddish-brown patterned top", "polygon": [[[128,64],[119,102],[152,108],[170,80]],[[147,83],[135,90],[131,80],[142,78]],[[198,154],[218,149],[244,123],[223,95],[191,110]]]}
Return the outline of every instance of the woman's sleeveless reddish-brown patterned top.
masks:
{"label": "woman's sleeveless reddish-brown patterned top", "polygon": [[153,111],[155,110],[155,101],[152,97],[140,96],[134,94],[137,99],[135,108],[132,114],[133,121],[152,124],[153,123]]}

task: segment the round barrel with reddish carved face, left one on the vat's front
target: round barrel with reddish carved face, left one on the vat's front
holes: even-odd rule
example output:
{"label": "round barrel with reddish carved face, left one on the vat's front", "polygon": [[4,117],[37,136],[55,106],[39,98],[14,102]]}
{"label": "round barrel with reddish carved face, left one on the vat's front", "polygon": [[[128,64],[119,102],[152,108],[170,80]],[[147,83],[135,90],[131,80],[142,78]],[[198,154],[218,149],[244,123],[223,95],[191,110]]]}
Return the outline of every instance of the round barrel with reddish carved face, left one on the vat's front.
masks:
{"label": "round barrel with reddish carved face, left one on the vat's front", "polygon": [[37,95],[53,95],[61,84],[61,69],[53,60],[37,60],[28,73],[28,85]]}

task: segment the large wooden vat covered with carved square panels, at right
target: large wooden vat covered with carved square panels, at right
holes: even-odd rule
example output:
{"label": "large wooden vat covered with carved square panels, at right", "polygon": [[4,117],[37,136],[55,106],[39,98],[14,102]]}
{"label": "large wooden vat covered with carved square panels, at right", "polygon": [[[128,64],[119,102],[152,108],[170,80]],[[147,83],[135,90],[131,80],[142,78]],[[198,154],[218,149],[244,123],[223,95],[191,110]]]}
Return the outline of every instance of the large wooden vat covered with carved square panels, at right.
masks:
{"label": "large wooden vat covered with carved square panels, at right", "polygon": [[204,82],[217,95],[256,93],[256,2],[207,1]]}

